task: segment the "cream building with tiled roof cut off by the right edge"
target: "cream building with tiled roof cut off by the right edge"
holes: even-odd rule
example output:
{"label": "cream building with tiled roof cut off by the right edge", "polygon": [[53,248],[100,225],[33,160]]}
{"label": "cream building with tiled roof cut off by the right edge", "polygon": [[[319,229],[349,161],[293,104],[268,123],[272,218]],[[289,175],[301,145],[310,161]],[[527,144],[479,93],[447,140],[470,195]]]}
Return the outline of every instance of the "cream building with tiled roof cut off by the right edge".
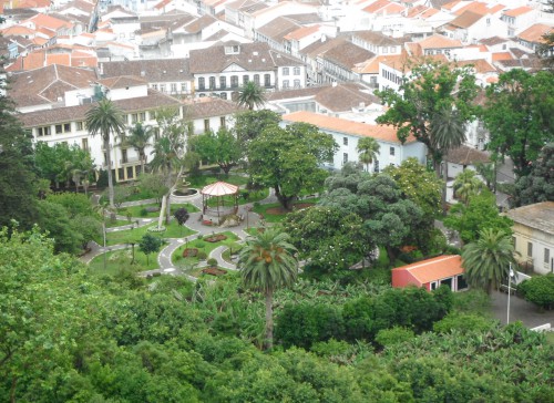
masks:
{"label": "cream building with tiled roof cut off by the right edge", "polygon": [[515,258],[534,272],[554,272],[554,202],[536,203],[506,211],[514,225]]}

